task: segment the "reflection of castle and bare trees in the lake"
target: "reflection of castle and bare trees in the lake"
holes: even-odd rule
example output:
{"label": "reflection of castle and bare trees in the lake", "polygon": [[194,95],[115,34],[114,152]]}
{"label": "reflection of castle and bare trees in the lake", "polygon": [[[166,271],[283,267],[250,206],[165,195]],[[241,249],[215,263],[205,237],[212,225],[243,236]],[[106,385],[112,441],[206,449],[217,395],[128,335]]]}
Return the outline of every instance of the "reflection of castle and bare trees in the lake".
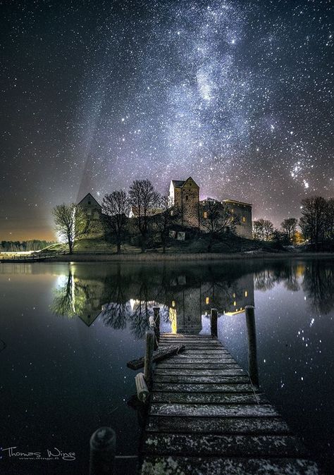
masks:
{"label": "reflection of castle and bare trees in the lake", "polygon": [[[330,276],[328,275],[330,272]],[[314,306],[333,305],[333,271],[323,263],[273,262],[268,269],[261,262],[186,264],[70,264],[54,291],[54,314],[78,316],[87,326],[102,319],[106,326],[122,329],[130,325],[142,338],[154,307],[160,307],[161,330],[200,333],[211,308],[234,316],[254,305],[256,290],[268,290],[282,283],[292,291],[302,287]],[[332,290],[330,290],[332,289]],[[320,292],[320,295],[319,295]],[[328,308],[327,308],[328,310]]]}

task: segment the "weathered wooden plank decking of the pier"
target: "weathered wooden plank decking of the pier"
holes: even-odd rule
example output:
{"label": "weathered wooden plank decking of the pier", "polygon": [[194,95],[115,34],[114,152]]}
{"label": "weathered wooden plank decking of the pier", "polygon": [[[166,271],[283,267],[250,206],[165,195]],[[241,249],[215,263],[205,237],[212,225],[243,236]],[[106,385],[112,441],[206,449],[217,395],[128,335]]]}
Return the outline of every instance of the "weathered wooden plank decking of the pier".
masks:
{"label": "weathered wooden plank decking of the pier", "polygon": [[142,474],[318,474],[315,462],[228,350],[209,335],[161,335],[185,345],[156,364]]}

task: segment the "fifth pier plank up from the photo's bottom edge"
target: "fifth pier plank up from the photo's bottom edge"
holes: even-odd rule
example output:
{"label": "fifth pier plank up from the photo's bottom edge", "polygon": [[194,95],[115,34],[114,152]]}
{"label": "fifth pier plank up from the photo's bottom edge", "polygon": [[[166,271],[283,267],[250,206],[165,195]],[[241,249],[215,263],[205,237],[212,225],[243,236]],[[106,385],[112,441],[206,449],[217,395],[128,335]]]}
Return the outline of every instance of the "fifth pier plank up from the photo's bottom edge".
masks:
{"label": "fifth pier plank up from the photo's bottom edge", "polygon": [[153,392],[153,402],[183,404],[268,404],[261,393],[167,393]]}

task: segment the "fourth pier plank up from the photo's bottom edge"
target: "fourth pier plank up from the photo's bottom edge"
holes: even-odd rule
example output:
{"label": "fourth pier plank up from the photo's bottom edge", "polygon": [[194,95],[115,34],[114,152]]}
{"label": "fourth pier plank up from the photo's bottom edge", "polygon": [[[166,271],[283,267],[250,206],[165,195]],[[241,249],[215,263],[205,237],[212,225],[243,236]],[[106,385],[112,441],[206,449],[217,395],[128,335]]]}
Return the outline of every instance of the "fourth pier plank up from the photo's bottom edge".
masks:
{"label": "fourth pier plank up from the photo's bottom edge", "polygon": [[215,405],[215,404],[163,404],[154,402],[151,415],[197,417],[261,417],[278,416],[271,405]]}

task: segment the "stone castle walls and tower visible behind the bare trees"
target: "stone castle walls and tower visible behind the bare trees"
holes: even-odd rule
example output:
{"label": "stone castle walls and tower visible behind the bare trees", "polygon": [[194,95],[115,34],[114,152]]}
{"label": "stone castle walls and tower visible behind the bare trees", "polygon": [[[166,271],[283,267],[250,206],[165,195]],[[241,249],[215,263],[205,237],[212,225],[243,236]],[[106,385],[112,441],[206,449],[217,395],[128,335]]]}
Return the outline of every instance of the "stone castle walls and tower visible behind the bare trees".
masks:
{"label": "stone castle walls and tower visible behind the bare trees", "polygon": [[[178,209],[180,216],[178,221],[183,228],[197,228],[204,230],[202,223],[207,217],[206,205],[208,202],[217,202],[213,198],[199,199],[199,185],[190,176],[187,180],[171,180],[169,187],[169,200],[171,207]],[[224,199],[221,204],[225,205],[235,221],[235,233],[247,239],[252,239],[252,204]],[[97,200],[88,193],[79,203],[93,220],[99,220],[102,207]],[[159,209],[154,210],[159,213]],[[129,218],[136,216],[136,209],[132,207]]]}

